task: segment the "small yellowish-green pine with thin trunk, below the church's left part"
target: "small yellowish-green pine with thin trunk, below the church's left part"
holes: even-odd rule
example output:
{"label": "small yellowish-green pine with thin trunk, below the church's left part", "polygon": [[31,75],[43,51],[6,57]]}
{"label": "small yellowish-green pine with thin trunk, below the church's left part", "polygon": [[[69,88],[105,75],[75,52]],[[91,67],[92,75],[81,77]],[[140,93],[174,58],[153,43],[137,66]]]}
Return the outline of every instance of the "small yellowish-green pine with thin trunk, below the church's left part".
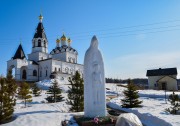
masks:
{"label": "small yellowish-green pine with thin trunk, below the church's left part", "polygon": [[30,95],[32,92],[30,91],[30,86],[28,83],[23,82],[20,84],[18,95],[21,99],[24,100],[24,105],[26,107],[27,102],[32,101],[32,96]]}

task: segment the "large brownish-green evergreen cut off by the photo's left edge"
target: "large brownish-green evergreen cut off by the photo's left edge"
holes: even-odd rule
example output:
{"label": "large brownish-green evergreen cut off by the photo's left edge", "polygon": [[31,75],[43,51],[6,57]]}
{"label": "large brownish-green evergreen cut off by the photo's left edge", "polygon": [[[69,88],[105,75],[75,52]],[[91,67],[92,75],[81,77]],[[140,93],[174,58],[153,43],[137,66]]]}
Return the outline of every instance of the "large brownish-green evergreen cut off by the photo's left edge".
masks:
{"label": "large brownish-green evergreen cut off by the photo's left edge", "polygon": [[10,119],[16,104],[15,93],[17,85],[9,71],[7,78],[0,77],[0,123]]}

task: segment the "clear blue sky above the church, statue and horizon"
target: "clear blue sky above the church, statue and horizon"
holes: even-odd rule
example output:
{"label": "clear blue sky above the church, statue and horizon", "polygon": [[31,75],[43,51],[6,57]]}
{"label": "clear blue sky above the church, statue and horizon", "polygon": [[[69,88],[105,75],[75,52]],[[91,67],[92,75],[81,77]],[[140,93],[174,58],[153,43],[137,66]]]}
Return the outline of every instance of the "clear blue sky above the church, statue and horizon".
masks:
{"label": "clear blue sky above the church, statue and horizon", "polygon": [[97,35],[106,77],[143,78],[147,69],[160,67],[180,70],[179,0],[0,0],[0,74],[6,74],[20,39],[25,53],[31,52],[40,11],[49,52],[64,31],[83,63]]}

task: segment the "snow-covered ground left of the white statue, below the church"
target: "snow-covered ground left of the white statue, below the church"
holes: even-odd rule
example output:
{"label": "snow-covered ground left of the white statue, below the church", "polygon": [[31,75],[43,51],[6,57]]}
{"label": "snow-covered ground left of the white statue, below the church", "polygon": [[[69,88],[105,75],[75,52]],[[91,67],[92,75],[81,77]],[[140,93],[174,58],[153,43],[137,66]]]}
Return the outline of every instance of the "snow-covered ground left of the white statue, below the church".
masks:
{"label": "snow-covered ground left of the white statue, below the church", "polygon": [[[68,89],[68,85],[61,85],[60,87]],[[33,97],[33,101],[26,108],[24,108],[22,100],[17,100],[14,112],[16,119],[2,126],[61,126],[61,121],[70,120],[74,114],[83,114],[83,112],[68,112],[69,105],[65,103],[67,99],[67,93],[65,92],[62,93],[64,101],[58,103],[44,103],[47,97],[45,90],[41,96]],[[77,124],[73,126],[77,126]]]}

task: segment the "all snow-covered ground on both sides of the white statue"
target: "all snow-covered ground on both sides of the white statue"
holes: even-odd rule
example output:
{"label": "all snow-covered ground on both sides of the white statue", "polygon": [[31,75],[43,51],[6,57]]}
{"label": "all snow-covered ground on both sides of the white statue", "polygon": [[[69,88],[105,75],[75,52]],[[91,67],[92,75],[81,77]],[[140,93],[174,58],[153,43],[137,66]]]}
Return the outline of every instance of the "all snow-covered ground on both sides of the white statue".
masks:
{"label": "all snow-covered ground on both sides of the white statue", "polygon": [[[38,86],[48,89],[52,82],[53,80],[44,80],[38,83]],[[66,99],[68,85],[60,85],[60,87],[63,89],[62,95]],[[117,98],[113,98],[107,103],[109,106],[135,113],[146,126],[180,126],[180,115],[170,115],[164,111],[170,106],[169,103],[165,103],[164,91],[140,90],[140,100],[143,101],[143,107],[124,109],[120,106],[120,99],[123,98],[122,92],[125,88],[115,84],[106,84],[106,88],[108,88],[107,95],[118,95]],[[29,107],[26,108],[21,100],[17,100],[14,112],[16,119],[2,126],[61,126],[62,120],[69,120],[74,114],[83,114],[83,112],[69,113],[69,105],[65,101],[44,103],[44,98],[47,97],[45,93],[46,90],[43,90],[41,96],[33,97],[32,103],[28,104]],[[167,94],[172,94],[172,92],[167,92]]]}

